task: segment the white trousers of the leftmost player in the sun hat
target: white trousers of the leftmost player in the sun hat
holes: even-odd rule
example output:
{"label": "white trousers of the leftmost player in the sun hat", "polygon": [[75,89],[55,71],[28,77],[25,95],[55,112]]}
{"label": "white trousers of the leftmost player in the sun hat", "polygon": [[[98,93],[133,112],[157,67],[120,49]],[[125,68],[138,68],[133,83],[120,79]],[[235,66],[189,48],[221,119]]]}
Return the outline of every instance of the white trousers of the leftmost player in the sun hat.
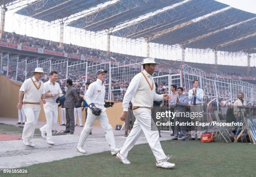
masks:
{"label": "white trousers of the leftmost player in the sun hat", "polygon": [[35,125],[38,121],[41,107],[40,105],[36,104],[24,104],[23,109],[27,121],[23,128],[22,139],[26,142],[29,142],[34,136]]}

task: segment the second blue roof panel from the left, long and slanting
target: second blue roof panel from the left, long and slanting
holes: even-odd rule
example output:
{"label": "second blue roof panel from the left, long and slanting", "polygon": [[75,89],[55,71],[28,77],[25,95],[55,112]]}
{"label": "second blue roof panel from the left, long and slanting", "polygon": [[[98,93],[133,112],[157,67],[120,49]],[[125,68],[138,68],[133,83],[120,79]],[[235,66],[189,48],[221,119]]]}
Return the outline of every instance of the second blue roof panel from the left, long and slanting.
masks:
{"label": "second blue roof panel from the left, long and slanting", "polygon": [[120,0],[95,13],[79,18],[68,26],[83,28],[90,31],[100,31],[115,27],[124,21],[150,13],[182,0]]}

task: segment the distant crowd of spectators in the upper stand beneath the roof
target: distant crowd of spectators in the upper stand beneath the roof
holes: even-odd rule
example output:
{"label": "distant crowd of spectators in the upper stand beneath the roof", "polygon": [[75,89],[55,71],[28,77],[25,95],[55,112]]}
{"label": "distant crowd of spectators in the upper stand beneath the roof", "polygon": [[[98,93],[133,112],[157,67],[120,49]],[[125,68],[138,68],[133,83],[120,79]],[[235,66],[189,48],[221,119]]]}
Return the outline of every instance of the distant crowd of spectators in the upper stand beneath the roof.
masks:
{"label": "distant crowd of spectators in the upper stand beneath the roof", "polygon": [[[33,38],[26,35],[19,35],[15,32],[8,33],[5,32],[2,35],[1,38],[2,41],[8,42],[8,43],[15,43],[15,44],[21,44],[23,46],[31,46],[36,48],[44,48],[51,51],[59,51],[64,53],[71,53],[74,55],[83,55],[84,57],[91,57],[91,58],[97,58],[100,60],[110,61],[110,58],[115,58],[117,62],[120,63],[135,63],[141,62],[143,57],[138,56],[130,56],[120,53],[113,53],[110,52],[109,54],[106,51],[101,51],[99,49],[93,49],[93,48],[87,48],[82,46],[77,46],[73,44],[63,44],[59,46],[58,42],[54,42],[51,40],[44,40],[39,38]],[[177,62],[174,64],[173,61],[166,61],[162,59],[157,59],[157,62],[160,63],[159,68],[167,69],[169,70],[171,68],[172,71],[178,71],[180,63]],[[251,73],[247,73],[246,67],[243,67],[243,69],[240,69],[238,72],[238,69],[232,69],[231,67],[226,67],[223,69],[215,69],[214,65],[206,65],[206,64],[199,64],[199,63],[188,63],[189,66],[195,67],[195,68],[202,68],[203,71],[207,71],[207,73],[216,73],[221,76],[251,76],[256,75],[256,68],[255,66],[252,67]],[[195,65],[195,66],[193,66]]]}

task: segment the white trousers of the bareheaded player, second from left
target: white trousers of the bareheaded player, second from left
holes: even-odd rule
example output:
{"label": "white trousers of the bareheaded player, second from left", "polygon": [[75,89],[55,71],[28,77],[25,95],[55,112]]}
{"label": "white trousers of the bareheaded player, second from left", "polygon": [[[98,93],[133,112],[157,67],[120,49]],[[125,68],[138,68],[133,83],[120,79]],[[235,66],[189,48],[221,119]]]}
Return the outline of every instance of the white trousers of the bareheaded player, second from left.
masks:
{"label": "white trousers of the bareheaded player, second from left", "polygon": [[55,102],[47,101],[46,104],[44,104],[44,113],[46,124],[41,127],[41,131],[46,132],[47,140],[52,140],[51,129],[58,120],[58,105]]}

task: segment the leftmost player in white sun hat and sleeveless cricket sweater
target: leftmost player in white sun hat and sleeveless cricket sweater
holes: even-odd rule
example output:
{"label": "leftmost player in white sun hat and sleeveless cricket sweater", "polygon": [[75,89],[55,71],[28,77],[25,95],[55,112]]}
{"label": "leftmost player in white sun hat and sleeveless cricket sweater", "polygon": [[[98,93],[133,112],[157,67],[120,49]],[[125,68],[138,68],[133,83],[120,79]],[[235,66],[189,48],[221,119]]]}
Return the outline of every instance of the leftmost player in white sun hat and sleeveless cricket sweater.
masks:
{"label": "leftmost player in white sun hat and sleeveless cricket sweater", "polygon": [[46,100],[43,95],[44,83],[40,80],[44,76],[43,73],[45,72],[43,71],[43,68],[35,68],[35,71],[32,72],[34,73],[34,76],[26,79],[20,87],[17,108],[24,108],[27,119],[22,133],[23,144],[35,147],[35,144],[32,142],[32,138],[35,131],[35,125],[41,111],[41,100],[46,104]]}

